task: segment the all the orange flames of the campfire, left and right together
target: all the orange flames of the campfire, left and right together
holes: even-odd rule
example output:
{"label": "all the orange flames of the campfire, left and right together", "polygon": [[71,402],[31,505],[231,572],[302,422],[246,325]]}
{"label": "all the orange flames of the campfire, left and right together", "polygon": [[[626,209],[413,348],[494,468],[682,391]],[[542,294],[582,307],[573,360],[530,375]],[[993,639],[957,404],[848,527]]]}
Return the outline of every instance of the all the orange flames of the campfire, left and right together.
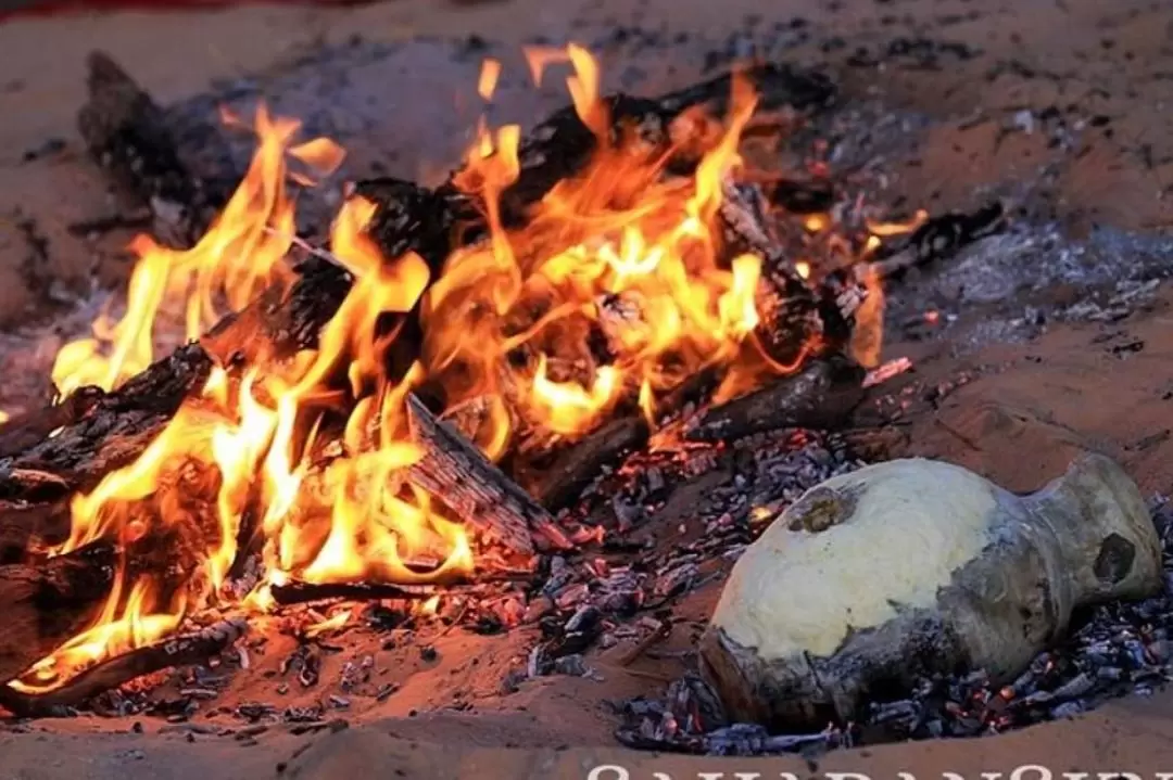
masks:
{"label": "all the orange flames of the campfire, left and right together", "polygon": [[[727,369],[718,397],[752,385],[762,371],[793,370],[758,347],[761,258],[730,260],[721,246],[718,214],[757,100],[748,83],[733,80],[719,132],[706,129],[699,146],[687,141],[690,153],[703,152],[694,175],[671,178],[665,150],[617,143],[586,49],[526,55],[535,82],[550,62],[571,66],[567,89],[595,138],[585,169],[554,186],[517,227],[502,196],[521,171],[521,131],[493,131],[482,119],[454,183],[482,205],[488,231],[447,258],[438,279],[413,253],[381,256],[364,232],[374,204],[347,200],[331,230],[330,256],[353,283],[318,348],[282,365],[215,369],[134,463],[74,499],[69,540],[54,554],[117,542],[116,586],[90,628],[14,686],[49,690],[165,636],[210,603],[269,609],[270,587],[293,579],[429,582],[470,570],[466,529],[408,478],[423,452],[409,438],[404,402],[425,379],[443,390],[449,411],[483,410],[474,438],[499,458],[520,437],[579,437],[624,405],[655,427],[664,396],[704,369]],[[499,62],[483,63],[482,98],[491,98],[500,74]],[[154,360],[160,326],[175,321],[188,338],[198,337],[225,309],[289,281],[287,182],[307,180],[289,170],[289,159],[326,175],[344,151],[324,138],[294,144],[298,123],[264,109],[255,129],[258,149],[244,180],[195,247],[172,249],[145,237],[131,245],[138,262],[126,312],[117,321],[101,317],[93,337],[60,351],[53,379],[62,394],[117,386]],[[813,241],[834,225],[814,215],[804,227]],[[915,228],[869,227],[865,253],[880,237]],[[794,267],[804,279],[813,273],[807,260]],[[870,342],[855,344],[861,361],[877,360],[882,319],[879,280],[868,286],[873,308],[863,317],[875,329]],[[394,322],[416,306],[422,355],[393,383],[385,348],[398,333]],[[805,354],[812,345],[802,347]],[[184,480],[202,490],[188,491]],[[208,512],[187,506],[191,492],[206,499]],[[194,559],[178,562],[184,576],[138,560],[144,542],[176,535],[190,542],[179,547]],[[225,586],[251,554],[264,579],[237,600]]]}

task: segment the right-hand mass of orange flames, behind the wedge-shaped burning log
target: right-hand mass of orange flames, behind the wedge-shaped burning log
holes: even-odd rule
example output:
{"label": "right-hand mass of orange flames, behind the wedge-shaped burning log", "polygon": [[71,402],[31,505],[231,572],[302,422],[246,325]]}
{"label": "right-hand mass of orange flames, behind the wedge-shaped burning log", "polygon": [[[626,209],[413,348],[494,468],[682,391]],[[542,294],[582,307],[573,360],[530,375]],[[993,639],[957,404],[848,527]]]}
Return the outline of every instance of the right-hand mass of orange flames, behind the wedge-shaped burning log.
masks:
{"label": "right-hand mass of orange flames, behind the wedge-shaped burning log", "polygon": [[[489,452],[510,438],[501,430],[510,424],[506,409],[520,406],[526,425],[569,438],[629,394],[651,415],[657,395],[683,377],[734,361],[759,320],[760,259],[720,267],[713,231],[724,183],[740,163],[752,90],[735,81],[725,132],[682,185],[662,180],[658,158],[613,146],[594,60],[576,46],[562,57],[575,69],[575,110],[598,141],[595,159],[555,186],[526,227],[506,228],[499,199],[520,170],[517,134],[506,128],[488,143],[482,136],[457,184],[484,201],[489,239],[449,258],[425,301],[429,375],[449,379],[452,403],[479,397],[495,410],[480,439]],[[530,53],[531,66],[554,59]],[[493,153],[480,153],[486,148]],[[541,314],[511,328],[527,310]],[[568,367],[562,347],[591,331],[605,335],[615,361],[597,365],[577,354],[574,363],[584,365]],[[518,353],[533,368],[502,374]]]}

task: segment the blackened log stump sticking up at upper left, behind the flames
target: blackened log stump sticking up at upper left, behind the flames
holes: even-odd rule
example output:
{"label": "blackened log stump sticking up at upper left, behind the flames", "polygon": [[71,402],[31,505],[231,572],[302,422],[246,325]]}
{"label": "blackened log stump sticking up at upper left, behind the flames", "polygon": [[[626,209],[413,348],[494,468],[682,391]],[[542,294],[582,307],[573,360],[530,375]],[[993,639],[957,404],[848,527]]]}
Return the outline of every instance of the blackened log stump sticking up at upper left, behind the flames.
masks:
{"label": "blackened log stump sticking up at upper left, behind the flames", "polygon": [[163,110],[103,52],[87,60],[89,97],[77,129],[90,155],[155,217],[155,233],[174,244],[195,241],[221,203],[179,158]]}

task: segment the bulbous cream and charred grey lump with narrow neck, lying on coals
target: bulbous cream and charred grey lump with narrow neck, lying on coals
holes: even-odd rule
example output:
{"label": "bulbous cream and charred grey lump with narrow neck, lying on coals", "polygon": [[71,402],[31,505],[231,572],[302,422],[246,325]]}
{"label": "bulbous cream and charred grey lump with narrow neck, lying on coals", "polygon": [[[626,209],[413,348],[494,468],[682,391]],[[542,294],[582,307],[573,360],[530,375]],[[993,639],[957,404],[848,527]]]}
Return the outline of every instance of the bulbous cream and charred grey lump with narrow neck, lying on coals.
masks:
{"label": "bulbous cream and charred grey lump with narrow neck, lying on coals", "polygon": [[750,545],[701,637],[701,672],[738,720],[822,727],[918,675],[1008,682],[1077,605],[1161,581],[1145,501],[1107,458],[1030,495],[894,460],[809,490]]}

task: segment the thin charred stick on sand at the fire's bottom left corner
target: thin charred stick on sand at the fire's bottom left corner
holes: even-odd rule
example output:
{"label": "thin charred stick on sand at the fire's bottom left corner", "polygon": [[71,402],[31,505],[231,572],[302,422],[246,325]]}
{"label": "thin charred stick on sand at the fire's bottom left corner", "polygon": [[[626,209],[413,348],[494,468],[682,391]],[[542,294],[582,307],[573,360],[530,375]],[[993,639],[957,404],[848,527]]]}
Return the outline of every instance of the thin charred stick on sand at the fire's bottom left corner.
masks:
{"label": "thin charred stick on sand at the fire's bottom left corner", "polygon": [[213,623],[108,658],[45,693],[23,693],[0,686],[0,706],[22,718],[63,717],[69,709],[124,683],[164,669],[206,662],[232,646],[248,631],[243,618]]}

